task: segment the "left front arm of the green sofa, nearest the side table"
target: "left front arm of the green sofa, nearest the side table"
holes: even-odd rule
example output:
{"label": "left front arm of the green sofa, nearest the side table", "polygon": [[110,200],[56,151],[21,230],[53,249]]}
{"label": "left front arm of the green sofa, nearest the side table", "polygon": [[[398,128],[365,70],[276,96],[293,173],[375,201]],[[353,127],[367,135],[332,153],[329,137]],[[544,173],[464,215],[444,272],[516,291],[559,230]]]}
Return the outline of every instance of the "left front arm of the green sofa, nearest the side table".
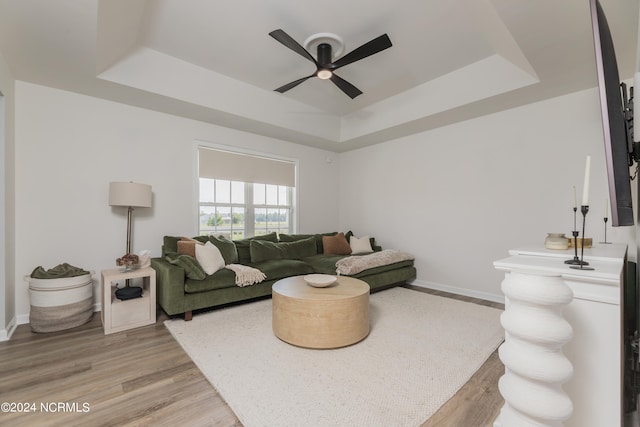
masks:
{"label": "left front arm of the green sofa, nearest the side table", "polygon": [[151,258],[151,267],[156,270],[156,296],[160,307],[172,316],[184,313],[184,269],[164,258]]}

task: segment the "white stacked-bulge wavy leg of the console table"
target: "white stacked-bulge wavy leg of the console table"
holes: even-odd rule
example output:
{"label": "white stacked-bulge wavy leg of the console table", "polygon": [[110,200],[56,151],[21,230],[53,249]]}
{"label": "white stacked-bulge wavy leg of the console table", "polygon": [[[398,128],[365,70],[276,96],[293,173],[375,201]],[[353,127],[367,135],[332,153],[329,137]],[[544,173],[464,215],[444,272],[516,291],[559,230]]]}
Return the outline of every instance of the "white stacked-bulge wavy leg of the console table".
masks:
{"label": "white stacked-bulge wavy leg of the console table", "polygon": [[559,427],[573,405],[562,384],[573,374],[562,346],[573,336],[562,315],[573,292],[560,276],[511,272],[502,282],[506,296],[500,321],[505,342],[499,389],[505,404],[495,427]]}

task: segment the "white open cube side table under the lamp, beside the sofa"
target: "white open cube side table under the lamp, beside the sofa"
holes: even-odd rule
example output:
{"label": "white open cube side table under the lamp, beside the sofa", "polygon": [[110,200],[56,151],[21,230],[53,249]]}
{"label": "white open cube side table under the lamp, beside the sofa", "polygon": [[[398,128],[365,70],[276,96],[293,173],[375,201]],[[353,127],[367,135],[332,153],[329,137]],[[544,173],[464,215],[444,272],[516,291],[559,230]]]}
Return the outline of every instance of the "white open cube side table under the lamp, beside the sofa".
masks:
{"label": "white open cube side table under the lamp, beside the sofa", "polygon": [[[102,327],[104,334],[125,331],[156,322],[156,271],[151,268],[102,270]],[[142,298],[121,301],[115,296],[117,282],[142,279]],[[133,286],[139,286],[134,282]]]}

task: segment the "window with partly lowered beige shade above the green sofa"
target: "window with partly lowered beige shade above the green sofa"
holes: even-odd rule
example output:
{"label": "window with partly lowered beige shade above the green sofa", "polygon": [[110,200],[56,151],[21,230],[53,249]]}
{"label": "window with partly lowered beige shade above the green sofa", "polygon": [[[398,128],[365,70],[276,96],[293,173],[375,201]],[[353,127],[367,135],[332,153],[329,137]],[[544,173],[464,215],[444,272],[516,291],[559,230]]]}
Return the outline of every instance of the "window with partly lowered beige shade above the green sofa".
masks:
{"label": "window with partly lowered beige shade above the green sofa", "polygon": [[200,235],[293,232],[293,162],[200,146],[198,166]]}

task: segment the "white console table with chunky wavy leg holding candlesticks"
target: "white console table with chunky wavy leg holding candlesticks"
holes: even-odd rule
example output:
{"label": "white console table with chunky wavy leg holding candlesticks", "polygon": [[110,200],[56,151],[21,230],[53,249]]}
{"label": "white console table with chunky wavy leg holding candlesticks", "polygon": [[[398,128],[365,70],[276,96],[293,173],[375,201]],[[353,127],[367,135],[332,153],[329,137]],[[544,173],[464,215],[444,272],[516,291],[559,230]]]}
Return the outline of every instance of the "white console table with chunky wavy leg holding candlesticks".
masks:
{"label": "white console table with chunky wavy leg holding candlesticks", "polygon": [[506,295],[505,405],[494,426],[621,426],[627,246],[585,249],[594,270],[565,264],[573,249],[522,248],[509,255],[494,263],[505,272]]}

